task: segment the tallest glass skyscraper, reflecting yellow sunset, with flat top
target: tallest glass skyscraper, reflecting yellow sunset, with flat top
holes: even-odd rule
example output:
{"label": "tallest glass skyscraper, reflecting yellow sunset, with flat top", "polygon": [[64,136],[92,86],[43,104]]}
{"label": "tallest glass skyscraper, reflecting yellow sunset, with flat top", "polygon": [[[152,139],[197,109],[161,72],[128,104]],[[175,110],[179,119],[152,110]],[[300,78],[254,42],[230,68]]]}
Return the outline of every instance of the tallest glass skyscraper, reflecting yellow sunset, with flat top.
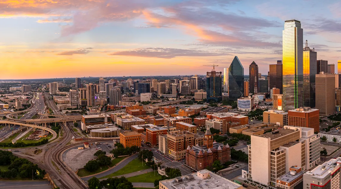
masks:
{"label": "tallest glass skyscraper, reflecting yellow sunset, with flat top", "polygon": [[284,111],[303,106],[303,29],[297,20],[284,23],[282,100]]}

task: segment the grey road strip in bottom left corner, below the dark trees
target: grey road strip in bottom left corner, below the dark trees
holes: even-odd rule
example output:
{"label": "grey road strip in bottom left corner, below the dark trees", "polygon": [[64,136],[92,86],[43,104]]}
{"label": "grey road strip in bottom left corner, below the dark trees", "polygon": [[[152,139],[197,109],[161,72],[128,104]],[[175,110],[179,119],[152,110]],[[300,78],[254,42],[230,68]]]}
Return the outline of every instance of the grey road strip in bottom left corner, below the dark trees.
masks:
{"label": "grey road strip in bottom left corner, below the dark trees", "polygon": [[52,185],[48,181],[0,181],[0,189],[51,189]]}

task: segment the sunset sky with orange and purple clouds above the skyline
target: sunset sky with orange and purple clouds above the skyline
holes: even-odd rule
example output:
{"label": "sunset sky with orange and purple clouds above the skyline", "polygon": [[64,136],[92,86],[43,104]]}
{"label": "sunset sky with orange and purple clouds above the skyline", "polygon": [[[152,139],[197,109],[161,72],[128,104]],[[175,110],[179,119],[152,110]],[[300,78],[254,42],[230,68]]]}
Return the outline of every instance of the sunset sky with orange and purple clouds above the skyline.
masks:
{"label": "sunset sky with orange and purple clouds above the skyline", "polygon": [[339,0],[0,0],[0,79],[206,74],[234,56],[245,74],[252,61],[267,74],[291,19],[337,65],[340,10]]}

